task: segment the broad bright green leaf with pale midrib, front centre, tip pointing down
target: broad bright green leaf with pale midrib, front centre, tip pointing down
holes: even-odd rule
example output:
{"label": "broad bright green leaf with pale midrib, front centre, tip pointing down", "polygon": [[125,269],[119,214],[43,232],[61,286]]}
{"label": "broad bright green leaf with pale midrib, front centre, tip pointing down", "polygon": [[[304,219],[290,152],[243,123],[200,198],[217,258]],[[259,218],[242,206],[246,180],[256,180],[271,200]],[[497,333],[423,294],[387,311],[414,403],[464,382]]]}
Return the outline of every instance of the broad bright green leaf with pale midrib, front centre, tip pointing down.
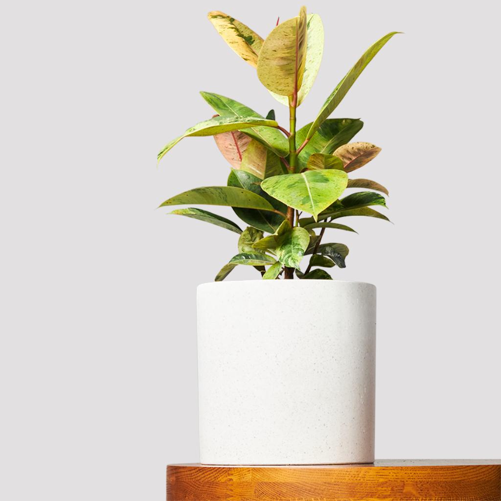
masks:
{"label": "broad bright green leaf with pale midrib, front centre, tip pointing down", "polygon": [[261,187],[290,207],[313,214],[315,220],[345,190],[346,172],[341,170],[308,170],[300,174],[273,176]]}

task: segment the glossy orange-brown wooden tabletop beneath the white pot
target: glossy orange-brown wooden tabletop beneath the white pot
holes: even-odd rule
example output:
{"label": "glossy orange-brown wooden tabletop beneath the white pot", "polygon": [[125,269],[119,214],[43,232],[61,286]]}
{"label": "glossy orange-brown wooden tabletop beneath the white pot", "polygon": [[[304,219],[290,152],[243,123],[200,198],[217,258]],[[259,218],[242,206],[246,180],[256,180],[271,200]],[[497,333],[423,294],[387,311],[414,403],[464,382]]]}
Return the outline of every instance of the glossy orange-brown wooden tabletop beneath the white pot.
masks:
{"label": "glossy orange-brown wooden tabletop beneath the white pot", "polygon": [[500,460],[167,466],[167,501],[501,501]]}

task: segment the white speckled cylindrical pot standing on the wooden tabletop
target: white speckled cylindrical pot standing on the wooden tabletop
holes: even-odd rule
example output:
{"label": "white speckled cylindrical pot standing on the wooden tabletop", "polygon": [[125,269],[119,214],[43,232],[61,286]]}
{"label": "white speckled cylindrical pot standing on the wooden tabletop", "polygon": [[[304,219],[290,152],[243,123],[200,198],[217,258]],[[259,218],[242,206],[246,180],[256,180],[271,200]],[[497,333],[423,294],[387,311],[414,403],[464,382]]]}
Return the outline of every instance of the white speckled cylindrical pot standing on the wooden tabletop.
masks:
{"label": "white speckled cylindrical pot standing on the wooden tabletop", "polygon": [[373,285],[202,284],[197,312],[202,463],[374,461]]}

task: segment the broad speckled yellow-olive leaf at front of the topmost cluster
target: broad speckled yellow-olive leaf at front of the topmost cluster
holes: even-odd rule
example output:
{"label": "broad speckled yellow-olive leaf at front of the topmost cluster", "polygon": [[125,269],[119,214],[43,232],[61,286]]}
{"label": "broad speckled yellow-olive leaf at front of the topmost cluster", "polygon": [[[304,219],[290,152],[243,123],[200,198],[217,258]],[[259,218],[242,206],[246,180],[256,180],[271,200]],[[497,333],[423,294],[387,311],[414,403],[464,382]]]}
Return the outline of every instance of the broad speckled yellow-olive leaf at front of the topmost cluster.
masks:
{"label": "broad speckled yellow-olive leaf at front of the topmost cluster", "polygon": [[270,91],[291,96],[301,89],[306,64],[306,8],[278,25],[266,38],[258,58],[258,78]]}

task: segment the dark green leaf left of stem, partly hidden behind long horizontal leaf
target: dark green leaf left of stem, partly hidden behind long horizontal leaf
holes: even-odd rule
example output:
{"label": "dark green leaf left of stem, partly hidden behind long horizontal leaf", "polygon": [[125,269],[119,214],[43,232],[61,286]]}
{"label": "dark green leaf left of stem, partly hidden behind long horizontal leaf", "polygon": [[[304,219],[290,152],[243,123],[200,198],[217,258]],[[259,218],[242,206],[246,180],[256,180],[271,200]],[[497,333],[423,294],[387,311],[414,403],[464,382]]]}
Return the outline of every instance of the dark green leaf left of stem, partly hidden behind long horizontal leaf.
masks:
{"label": "dark green leaf left of stem, partly hidden behind long horizontal leaf", "polygon": [[[276,210],[287,211],[287,206],[272,198],[261,189],[261,179],[243,170],[232,170],[228,176],[228,186],[252,191],[267,200]],[[274,233],[285,217],[268,210],[252,210],[233,207],[235,214],[244,222],[255,228]]]}

